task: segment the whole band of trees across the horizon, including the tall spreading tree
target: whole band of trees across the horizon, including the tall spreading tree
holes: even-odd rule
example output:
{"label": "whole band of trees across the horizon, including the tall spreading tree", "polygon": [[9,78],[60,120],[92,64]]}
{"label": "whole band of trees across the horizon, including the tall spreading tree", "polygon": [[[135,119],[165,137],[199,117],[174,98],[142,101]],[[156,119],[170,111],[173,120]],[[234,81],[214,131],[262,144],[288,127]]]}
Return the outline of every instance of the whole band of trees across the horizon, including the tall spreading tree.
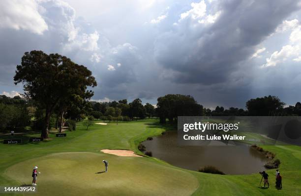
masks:
{"label": "whole band of trees across the horizon, including the tall spreading tree", "polygon": [[301,116],[300,102],[284,107],[285,103],[275,96],[252,98],[246,102],[246,109],[216,106],[214,110],[179,94],[159,97],[156,107],[143,105],[139,98],[129,103],[127,99],[90,101],[93,91],[87,89],[97,85],[90,70],[60,54],[37,50],[25,52],[14,81],[23,84],[24,95],[0,96],[0,129],[30,126],[41,130],[43,138],[48,138],[48,130],[53,127],[61,132],[65,124],[75,130],[75,121],[85,119],[127,122],[155,117],[161,123],[176,123],[178,116]]}

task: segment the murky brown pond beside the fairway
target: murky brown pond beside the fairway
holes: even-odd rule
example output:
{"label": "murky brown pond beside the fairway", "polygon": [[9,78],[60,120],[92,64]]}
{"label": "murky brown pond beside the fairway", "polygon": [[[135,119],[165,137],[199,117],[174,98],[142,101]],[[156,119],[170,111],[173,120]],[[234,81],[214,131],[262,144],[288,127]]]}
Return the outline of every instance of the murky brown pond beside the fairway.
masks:
{"label": "murky brown pond beside the fairway", "polygon": [[268,162],[263,154],[246,145],[178,146],[177,131],[167,131],[142,144],[153,157],[193,171],[210,165],[226,174],[250,174],[262,172]]}

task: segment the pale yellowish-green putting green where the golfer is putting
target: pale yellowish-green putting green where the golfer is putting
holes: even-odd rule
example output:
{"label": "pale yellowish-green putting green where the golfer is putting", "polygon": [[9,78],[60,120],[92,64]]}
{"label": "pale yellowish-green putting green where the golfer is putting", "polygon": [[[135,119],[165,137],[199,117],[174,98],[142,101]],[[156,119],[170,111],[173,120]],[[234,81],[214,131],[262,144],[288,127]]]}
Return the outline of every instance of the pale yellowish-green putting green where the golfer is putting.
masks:
{"label": "pale yellowish-green putting green where the golfer is putting", "polygon": [[[109,162],[107,173],[103,159]],[[36,183],[43,196],[188,196],[198,188],[192,174],[152,161],[101,152],[62,152],[17,163],[5,174],[20,184],[31,184],[32,168],[38,166],[41,174]]]}

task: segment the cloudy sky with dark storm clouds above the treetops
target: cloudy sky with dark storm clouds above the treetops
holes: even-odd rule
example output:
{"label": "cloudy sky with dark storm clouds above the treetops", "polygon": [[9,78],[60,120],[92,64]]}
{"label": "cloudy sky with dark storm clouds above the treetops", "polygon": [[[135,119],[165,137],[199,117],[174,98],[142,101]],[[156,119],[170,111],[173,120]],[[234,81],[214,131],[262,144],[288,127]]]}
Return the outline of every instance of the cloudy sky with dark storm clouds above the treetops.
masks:
{"label": "cloudy sky with dark storm clouds above the treetops", "polygon": [[300,0],[0,0],[0,94],[30,50],[88,67],[95,101],[301,101]]}

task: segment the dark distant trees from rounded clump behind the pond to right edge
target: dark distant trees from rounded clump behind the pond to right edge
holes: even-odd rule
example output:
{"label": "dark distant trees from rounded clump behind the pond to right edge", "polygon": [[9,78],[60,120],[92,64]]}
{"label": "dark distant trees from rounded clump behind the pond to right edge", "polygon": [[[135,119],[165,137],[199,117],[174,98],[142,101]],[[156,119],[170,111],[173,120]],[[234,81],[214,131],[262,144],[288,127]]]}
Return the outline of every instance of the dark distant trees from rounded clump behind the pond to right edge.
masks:
{"label": "dark distant trees from rounded clump behind the pond to right edge", "polygon": [[178,116],[301,116],[301,103],[284,107],[278,97],[266,96],[252,98],[246,102],[246,110],[216,106],[214,110],[198,104],[193,97],[185,95],[166,95],[157,99],[156,114],[161,123],[166,119],[177,122]]}

